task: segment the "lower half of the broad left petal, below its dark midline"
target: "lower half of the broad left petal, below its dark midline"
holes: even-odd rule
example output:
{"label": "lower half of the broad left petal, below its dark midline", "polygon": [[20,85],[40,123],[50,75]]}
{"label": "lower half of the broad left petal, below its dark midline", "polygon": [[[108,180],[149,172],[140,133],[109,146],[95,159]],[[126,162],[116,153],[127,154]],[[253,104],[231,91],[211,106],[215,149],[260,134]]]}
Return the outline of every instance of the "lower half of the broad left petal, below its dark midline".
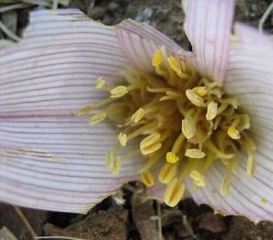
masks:
{"label": "lower half of the broad left petal, below its dark midline", "polygon": [[117,134],[109,122],[92,128],[86,118],[71,116],[0,121],[1,201],[85,213],[123,182],[136,179],[143,165],[143,158],[126,159],[117,177],[106,169],[106,152]]}

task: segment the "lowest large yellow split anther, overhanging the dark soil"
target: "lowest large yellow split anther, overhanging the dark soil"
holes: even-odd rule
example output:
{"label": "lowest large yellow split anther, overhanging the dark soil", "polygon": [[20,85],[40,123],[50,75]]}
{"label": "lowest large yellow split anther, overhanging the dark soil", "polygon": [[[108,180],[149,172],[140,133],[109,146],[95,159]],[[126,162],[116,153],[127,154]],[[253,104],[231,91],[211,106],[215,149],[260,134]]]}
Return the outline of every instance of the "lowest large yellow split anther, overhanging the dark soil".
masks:
{"label": "lowest large yellow split anther, overhanging the dark soil", "polygon": [[185,192],[185,184],[180,183],[178,178],[173,179],[169,184],[164,194],[164,202],[170,206],[174,207],[183,197]]}

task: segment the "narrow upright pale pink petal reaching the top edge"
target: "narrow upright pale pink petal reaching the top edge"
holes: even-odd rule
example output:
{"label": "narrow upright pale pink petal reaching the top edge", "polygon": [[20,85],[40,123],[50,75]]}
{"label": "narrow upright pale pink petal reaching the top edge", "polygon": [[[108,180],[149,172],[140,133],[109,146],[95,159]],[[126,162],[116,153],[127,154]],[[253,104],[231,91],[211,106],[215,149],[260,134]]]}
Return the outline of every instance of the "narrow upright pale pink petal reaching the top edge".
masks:
{"label": "narrow upright pale pink petal reaching the top edge", "polygon": [[226,73],[234,1],[182,1],[184,30],[196,56],[192,63],[201,75],[222,82]]}

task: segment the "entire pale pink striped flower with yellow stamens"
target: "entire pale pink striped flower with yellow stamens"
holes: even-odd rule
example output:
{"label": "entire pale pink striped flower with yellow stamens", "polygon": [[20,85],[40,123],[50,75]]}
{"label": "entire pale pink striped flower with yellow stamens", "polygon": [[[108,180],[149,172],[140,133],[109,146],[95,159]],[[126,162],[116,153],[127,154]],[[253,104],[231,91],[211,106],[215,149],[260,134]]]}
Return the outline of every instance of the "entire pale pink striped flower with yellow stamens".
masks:
{"label": "entire pale pink striped flower with yellow stamens", "polygon": [[233,5],[183,2],[193,55],[144,23],[33,12],[24,41],[1,52],[0,200],[87,212],[141,177],[169,205],[188,189],[218,212],[271,220],[273,43],[242,24],[231,38]]}

